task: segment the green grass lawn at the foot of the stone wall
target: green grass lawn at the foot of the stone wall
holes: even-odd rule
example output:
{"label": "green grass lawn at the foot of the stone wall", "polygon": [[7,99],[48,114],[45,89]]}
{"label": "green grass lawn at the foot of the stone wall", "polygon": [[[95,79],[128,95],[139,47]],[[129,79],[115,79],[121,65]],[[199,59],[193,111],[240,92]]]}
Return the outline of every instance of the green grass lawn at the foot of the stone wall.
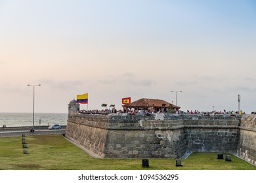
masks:
{"label": "green grass lawn at the foot of the stone wall", "polygon": [[231,155],[232,161],[217,159],[216,153],[196,152],[182,159],[98,159],[70,143],[62,135],[26,136],[29,154],[23,154],[22,137],[0,138],[0,169],[5,170],[256,170],[254,165]]}

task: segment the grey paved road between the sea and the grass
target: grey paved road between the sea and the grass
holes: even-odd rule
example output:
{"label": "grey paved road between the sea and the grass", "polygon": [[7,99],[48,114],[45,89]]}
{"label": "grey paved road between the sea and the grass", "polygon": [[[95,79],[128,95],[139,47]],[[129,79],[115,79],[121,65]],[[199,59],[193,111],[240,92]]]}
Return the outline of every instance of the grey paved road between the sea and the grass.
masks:
{"label": "grey paved road between the sea and the grass", "polygon": [[30,132],[29,127],[11,127],[11,128],[1,128],[0,137],[10,137],[10,136],[22,136],[25,135],[46,135],[46,134],[63,134],[66,131],[66,126],[62,126],[62,129],[47,129],[47,127],[35,127],[33,133]]}

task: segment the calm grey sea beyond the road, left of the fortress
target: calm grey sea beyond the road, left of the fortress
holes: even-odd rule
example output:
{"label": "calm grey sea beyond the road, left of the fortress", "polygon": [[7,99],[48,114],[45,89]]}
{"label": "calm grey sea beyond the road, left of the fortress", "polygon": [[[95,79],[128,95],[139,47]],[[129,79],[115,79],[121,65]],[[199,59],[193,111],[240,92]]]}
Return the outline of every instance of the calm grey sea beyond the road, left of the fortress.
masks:
{"label": "calm grey sea beyond the road, left of the fortress", "polygon": [[[68,120],[67,113],[35,113],[34,125],[66,125]],[[40,124],[41,122],[41,124]],[[33,125],[33,113],[1,113],[0,127],[20,127]]]}

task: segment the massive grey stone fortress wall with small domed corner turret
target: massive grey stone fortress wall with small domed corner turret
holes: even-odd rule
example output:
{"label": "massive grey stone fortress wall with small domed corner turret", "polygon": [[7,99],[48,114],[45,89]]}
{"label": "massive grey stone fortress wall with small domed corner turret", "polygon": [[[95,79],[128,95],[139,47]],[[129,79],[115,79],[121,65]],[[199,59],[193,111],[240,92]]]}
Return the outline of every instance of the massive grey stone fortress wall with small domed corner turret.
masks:
{"label": "massive grey stone fortress wall with small domed corner turret", "polygon": [[65,136],[102,158],[231,153],[256,165],[256,115],[83,114],[70,103]]}

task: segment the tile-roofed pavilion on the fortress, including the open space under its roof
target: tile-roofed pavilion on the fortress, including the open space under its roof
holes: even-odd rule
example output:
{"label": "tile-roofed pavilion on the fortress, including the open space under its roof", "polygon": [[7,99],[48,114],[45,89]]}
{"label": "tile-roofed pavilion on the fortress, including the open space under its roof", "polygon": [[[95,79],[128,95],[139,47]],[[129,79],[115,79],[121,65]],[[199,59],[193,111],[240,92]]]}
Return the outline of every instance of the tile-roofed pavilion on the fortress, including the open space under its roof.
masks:
{"label": "tile-roofed pavilion on the fortress, including the open space under its roof", "polygon": [[163,101],[161,99],[139,99],[130,104],[123,105],[123,108],[135,108],[139,110],[150,110],[150,111],[158,111],[158,110],[167,110],[169,108],[173,110],[179,110],[181,107],[168,103],[167,101]]}

